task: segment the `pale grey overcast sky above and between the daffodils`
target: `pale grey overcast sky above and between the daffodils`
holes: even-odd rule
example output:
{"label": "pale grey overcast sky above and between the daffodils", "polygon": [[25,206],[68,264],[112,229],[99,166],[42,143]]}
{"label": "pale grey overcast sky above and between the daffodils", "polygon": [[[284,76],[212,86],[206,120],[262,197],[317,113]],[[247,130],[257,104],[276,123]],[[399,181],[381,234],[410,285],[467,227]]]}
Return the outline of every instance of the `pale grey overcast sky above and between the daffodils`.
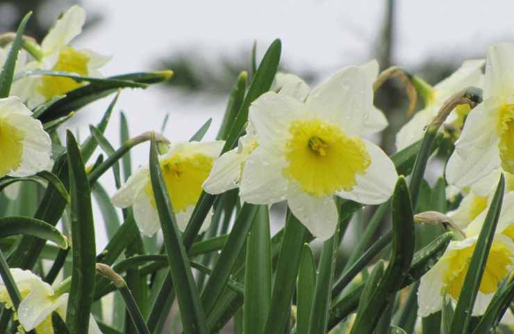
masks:
{"label": "pale grey overcast sky above and between the daffodils", "polygon": [[[78,40],[87,47],[113,56],[103,74],[122,74],[154,68],[156,59],[195,47],[206,59],[230,55],[258,42],[262,54],[274,38],[283,42],[283,58],[294,68],[308,67],[328,76],[345,64],[370,60],[383,17],[383,1],[164,1],[84,0],[85,8],[103,20]],[[395,26],[397,65],[415,67],[427,58],[452,58],[485,54],[492,42],[512,40],[513,4],[510,1],[397,1]],[[65,9],[65,8],[62,8]],[[87,124],[96,123],[108,100],[81,111],[90,113]],[[224,101],[179,98],[159,88],[124,90],[117,110],[128,114],[132,134],[159,129],[170,113],[165,135],[172,141],[187,140],[209,117],[213,138],[224,110]],[[85,119],[85,118],[82,118]],[[117,146],[118,114],[106,136]],[[147,164],[148,147],[135,150],[133,165]],[[112,193],[111,173],[102,178]],[[98,211],[95,210],[95,214]],[[106,238],[99,235],[97,247]]]}

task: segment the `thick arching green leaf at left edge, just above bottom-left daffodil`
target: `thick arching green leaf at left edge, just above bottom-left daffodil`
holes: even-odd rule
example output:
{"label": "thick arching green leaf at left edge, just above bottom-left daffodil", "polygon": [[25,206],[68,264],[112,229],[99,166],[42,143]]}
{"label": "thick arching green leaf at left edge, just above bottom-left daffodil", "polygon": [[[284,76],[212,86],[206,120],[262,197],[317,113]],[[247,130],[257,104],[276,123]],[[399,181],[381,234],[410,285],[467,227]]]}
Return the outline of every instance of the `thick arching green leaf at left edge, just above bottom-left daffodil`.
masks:
{"label": "thick arching green leaf at left edge, just above bottom-left daffodil", "polygon": [[22,216],[0,218],[0,238],[12,235],[31,235],[40,239],[53,241],[60,248],[67,248],[66,237],[52,225],[39,219]]}

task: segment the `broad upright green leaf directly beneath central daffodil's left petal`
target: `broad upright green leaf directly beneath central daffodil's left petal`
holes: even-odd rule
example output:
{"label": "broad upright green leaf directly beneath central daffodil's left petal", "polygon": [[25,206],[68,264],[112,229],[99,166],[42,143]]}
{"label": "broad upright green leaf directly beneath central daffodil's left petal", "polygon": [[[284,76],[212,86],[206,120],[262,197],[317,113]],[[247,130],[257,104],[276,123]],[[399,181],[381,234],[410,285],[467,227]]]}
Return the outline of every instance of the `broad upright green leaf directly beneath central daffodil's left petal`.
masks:
{"label": "broad upright green leaf directly beneath central daffodil's left petal", "polygon": [[272,248],[267,205],[258,206],[252,225],[244,274],[244,333],[262,334],[272,299]]}

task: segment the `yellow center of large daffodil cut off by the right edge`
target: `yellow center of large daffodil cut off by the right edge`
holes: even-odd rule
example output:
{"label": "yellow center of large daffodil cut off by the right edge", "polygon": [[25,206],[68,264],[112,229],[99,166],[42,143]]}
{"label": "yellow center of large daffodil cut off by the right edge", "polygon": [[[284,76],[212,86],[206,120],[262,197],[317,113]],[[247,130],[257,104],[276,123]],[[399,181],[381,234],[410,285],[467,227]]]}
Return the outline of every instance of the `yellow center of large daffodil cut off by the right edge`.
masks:
{"label": "yellow center of large daffodil cut off by the right edge", "polygon": [[499,124],[501,168],[514,173],[514,104],[502,106]]}

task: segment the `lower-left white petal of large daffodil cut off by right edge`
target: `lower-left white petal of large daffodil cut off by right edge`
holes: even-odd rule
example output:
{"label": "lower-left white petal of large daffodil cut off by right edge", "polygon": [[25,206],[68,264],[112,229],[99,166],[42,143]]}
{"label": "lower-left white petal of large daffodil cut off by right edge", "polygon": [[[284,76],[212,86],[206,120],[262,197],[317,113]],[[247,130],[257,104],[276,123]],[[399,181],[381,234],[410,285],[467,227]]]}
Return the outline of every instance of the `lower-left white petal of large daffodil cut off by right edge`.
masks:
{"label": "lower-left white petal of large daffodil cut off by right edge", "polygon": [[467,116],[463,133],[448,161],[446,178],[459,188],[473,184],[500,166],[497,123],[488,104],[488,100],[482,102]]}

